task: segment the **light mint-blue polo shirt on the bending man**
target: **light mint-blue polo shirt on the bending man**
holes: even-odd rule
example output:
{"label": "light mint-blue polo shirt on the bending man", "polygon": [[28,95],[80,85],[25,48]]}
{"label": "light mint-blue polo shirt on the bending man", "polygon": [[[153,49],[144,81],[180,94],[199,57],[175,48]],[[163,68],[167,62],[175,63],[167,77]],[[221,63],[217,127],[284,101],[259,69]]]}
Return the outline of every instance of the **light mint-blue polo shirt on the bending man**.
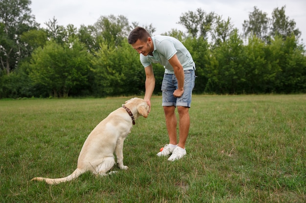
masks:
{"label": "light mint-blue polo shirt on the bending man", "polygon": [[182,64],[184,71],[196,68],[195,62],[186,47],[176,38],[170,36],[157,35],[151,37],[153,41],[153,56],[140,54],[140,62],[146,68],[152,63],[160,63],[165,68],[166,74],[174,74],[173,67],[169,59],[175,54]]}

